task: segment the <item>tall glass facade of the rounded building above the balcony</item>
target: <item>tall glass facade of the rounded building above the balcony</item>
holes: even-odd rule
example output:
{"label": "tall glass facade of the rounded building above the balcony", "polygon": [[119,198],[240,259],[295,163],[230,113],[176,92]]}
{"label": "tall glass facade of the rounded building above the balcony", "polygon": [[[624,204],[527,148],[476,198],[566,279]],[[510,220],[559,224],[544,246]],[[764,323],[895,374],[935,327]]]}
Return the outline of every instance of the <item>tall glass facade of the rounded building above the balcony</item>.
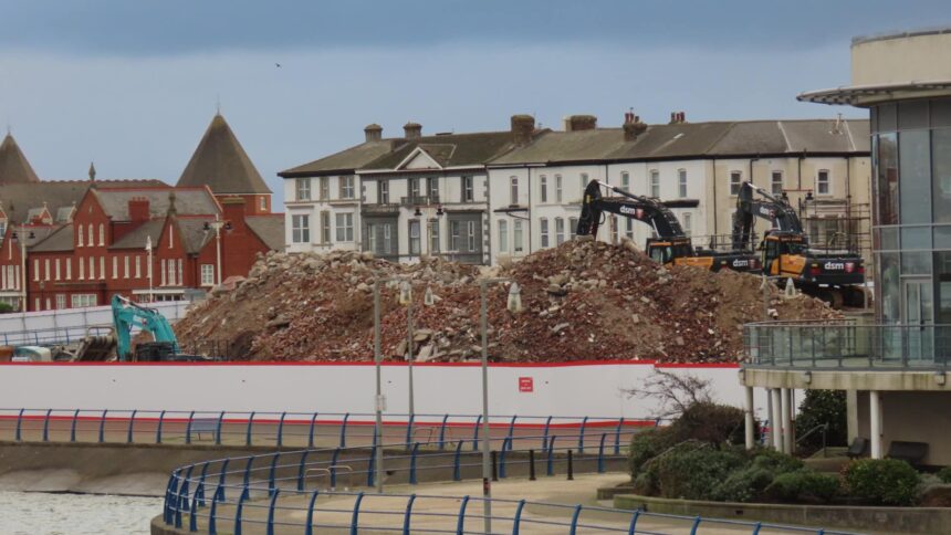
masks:
{"label": "tall glass facade of the rounded building above the balcony", "polygon": [[951,98],[871,108],[876,313],[951,324]]}

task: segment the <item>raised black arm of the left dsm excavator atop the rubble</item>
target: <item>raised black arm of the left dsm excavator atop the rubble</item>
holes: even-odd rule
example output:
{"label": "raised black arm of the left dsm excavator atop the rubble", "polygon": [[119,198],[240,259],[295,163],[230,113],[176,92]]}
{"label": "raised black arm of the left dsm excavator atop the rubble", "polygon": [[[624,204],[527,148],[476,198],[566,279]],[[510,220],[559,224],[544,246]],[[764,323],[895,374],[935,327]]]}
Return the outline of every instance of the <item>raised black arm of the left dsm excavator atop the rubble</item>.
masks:
{"label": "raised black arm of the left dsm excavator atop the rubble", "polygon": [[[602,188],[620,197],[604,197]],[[582,200],[582,214],[578,218],[577,234],[595,235],[602,224],[604,212],[616,213],[649,224],[659,238],[683,238],[683,229],[677,216],[663,202],[629,193],[620,188],[608,186],[600,180],[592,180],[585,188]]]}

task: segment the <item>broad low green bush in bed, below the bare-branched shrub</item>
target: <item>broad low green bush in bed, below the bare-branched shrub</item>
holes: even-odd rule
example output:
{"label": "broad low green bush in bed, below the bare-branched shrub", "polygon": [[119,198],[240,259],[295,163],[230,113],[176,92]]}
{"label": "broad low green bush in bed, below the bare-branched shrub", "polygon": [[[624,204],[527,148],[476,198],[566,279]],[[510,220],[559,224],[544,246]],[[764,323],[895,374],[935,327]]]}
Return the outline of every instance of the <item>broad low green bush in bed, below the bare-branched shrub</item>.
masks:
{"label": "broad low green bush in bed, below the bare-branched shrub", "polygon": [[745,464],[742,451],[683,447],[656,458],[647,471],[656,474],[661,497],[711,500],[713,489]]}

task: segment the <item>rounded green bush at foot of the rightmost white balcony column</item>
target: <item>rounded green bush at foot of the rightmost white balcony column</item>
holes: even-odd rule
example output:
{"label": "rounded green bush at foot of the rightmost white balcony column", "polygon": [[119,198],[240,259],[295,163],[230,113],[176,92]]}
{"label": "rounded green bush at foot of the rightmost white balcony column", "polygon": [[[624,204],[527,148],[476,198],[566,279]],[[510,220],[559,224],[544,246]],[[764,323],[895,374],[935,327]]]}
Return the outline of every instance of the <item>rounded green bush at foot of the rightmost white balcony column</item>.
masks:
{"label": "rounded green bush at foot of the rightmost white balcony column", "polygon": [[843,473],[848,493],[874,504],[910,505],[915,502],[920,476],[906,461],[861,459]]}

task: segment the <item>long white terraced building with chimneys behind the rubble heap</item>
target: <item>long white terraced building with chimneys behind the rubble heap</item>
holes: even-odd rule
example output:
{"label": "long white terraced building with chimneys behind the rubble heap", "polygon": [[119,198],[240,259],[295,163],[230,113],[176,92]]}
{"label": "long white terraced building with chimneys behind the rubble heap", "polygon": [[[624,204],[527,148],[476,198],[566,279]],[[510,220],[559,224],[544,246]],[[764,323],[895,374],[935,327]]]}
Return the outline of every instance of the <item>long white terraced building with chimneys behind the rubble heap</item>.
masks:
{"label": "long white terraced building with chimneys behind the rubble heap", "polygon": [[[410,123],[400,138],[383,138],[378,125],[365,133],[360,145],[280,174],[289,251],[494,264],[572,239],[593,179],[678,200],[694,237],[731,231],[735,192],[751,179],[787,193],[814,241],[868,232],[867,120],[687,123],[675,113],[646,125],[626,114],[620,127],[599,128],[575,115],[551,130],[516,115],[504,132],[422,136]],[[598,239],[644,243],[649,232],[610,218]]]}

